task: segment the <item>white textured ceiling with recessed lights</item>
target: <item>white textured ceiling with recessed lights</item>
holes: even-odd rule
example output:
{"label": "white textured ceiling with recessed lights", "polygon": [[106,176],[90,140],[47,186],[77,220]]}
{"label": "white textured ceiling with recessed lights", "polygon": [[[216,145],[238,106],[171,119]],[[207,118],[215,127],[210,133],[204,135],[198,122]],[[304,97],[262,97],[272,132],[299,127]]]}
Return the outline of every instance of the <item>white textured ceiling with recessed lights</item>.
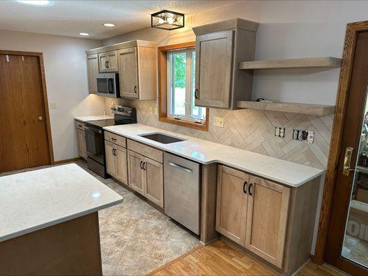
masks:
{"label": "white textured ceiling with recessed lights", "polygon": [[[30,6],[0,1],[0,29],[106,39],[151,26],[153,12],[174,10],[186,15],[210,10],[234,1],[61,1],[53,6]],[[115,23],[108,28],[103,23]]]}

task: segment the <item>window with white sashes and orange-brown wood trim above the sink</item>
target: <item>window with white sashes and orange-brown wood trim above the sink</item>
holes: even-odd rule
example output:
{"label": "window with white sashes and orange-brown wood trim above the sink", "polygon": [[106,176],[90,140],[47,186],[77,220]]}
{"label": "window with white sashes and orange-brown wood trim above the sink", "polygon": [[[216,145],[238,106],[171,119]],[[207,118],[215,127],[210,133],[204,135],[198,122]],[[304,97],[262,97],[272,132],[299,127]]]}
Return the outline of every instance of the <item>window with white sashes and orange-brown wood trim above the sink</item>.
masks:
{"label": "window with white sashes and orange-brown wood trim above the sink", "polygon": [[208,130],[209,110],[194,102],[195,43],[180,46],[159,48],[159,121]]}

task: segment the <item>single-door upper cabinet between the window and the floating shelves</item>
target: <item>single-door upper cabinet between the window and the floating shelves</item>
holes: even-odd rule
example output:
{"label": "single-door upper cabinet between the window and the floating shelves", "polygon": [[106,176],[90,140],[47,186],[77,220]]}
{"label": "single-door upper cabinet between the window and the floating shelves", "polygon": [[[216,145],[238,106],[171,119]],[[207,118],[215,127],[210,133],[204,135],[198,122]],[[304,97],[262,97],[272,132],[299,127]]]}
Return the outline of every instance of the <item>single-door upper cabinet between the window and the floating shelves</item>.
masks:
{"label": "single-door upper cabinet between the window and the floating shelves", "polygon": [[253,61],[259,23],[231,19],[193,28],[196,35],[195,105],[237,108],[251,100],[253,72],[238,68]]}

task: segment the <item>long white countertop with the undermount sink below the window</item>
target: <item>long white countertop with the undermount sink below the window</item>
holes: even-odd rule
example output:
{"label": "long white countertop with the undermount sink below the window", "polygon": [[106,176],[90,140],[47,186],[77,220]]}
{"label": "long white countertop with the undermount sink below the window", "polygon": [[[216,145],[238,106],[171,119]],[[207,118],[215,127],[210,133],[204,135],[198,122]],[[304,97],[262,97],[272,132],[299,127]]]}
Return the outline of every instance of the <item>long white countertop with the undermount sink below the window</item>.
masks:
{"label": "long white countertop with the undermount sink below the window", "polygon": [[[292,187],[298,187],[325,173],[324,170],[319,170],[317,168],[188,137],[186,135],[180,135],[175,132],[153,128],[151,126],[144,126],[142,124],[107,126],[104,130],[135,141],[140,141],[144,144],[197,161],[201,164],[224,164]],[[186,140],[173,144],[161,144],[139,136],[155,132],[162,132]]]}

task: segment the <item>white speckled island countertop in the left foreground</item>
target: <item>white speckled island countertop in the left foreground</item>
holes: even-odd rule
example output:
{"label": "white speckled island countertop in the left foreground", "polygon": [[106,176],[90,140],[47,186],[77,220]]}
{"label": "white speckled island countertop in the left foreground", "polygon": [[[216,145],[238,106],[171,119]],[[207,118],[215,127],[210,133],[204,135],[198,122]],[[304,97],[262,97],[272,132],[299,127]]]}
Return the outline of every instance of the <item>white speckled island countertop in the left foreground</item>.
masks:
{"label": "white speckled island countertop in the left foreground", "polygon": [[0,242],[122,201],[77,164],[0,177]]}

